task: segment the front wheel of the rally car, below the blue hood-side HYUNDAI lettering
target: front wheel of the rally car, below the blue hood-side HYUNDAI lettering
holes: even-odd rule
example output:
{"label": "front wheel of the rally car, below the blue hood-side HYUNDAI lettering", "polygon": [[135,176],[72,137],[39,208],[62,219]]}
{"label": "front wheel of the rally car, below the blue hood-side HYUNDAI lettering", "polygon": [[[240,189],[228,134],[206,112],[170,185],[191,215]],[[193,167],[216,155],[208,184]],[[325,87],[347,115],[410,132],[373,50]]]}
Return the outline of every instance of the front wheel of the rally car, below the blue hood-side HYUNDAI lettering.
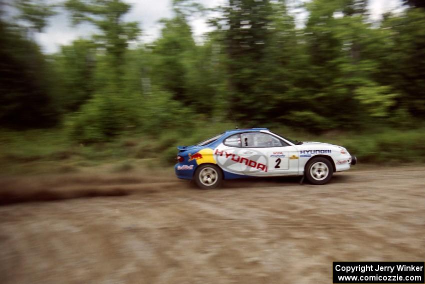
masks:
{"label": "front wheel of the rally car, below the blue hood-side HYUNDAI lettering", "polygon": [[325,184],[333,174],[332,164],[326,158],[312,158],[305,165],[304,175],[311,184]]}

